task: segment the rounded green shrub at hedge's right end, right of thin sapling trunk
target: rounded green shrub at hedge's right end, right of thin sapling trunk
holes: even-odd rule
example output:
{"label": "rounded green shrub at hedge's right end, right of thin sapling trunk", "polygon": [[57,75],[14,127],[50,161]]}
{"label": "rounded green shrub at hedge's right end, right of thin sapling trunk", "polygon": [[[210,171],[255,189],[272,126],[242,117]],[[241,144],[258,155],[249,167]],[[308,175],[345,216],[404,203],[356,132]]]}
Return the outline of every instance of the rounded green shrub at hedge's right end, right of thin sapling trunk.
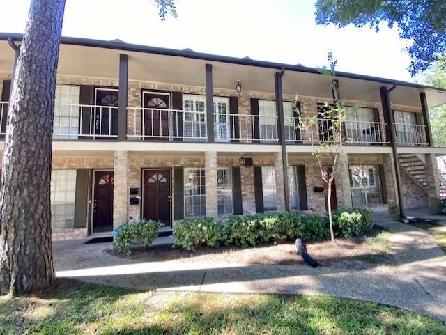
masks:
{"label": "rounded green shrub at hedge's right end, right of thin sapling trunk", "polygon": [[366,208],[352,208],[341,212],[333,212],[333,229],[337,236],[362,235],[373,226],[373,213]]}

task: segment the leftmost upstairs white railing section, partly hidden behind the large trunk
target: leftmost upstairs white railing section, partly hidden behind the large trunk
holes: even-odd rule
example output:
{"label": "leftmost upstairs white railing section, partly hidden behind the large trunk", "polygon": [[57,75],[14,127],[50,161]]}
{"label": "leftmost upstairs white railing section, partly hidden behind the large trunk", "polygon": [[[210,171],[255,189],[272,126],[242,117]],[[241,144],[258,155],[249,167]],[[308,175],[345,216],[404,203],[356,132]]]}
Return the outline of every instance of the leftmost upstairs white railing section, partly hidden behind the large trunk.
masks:
{"label": "leftmost upstairs white railing section, partly hidden behind the large trunk", "polygon": [[[6,133],[8,102],[0,102],[0,135]],[[116,139],[118,107],[55,104],[53,139]]]}

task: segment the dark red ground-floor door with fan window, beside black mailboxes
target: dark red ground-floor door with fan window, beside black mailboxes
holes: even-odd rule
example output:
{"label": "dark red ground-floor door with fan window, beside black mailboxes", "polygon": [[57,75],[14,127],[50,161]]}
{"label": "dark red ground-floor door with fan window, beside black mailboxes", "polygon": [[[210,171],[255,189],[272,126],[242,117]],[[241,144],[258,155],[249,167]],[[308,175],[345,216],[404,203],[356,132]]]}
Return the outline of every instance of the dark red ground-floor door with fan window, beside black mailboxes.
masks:
{"label": "dark red ground-floor door with fan window, beside black mailboxes", "polygon": [[170,170],[144,170],[143,178],[144,219],[159,220],[170,226]]}

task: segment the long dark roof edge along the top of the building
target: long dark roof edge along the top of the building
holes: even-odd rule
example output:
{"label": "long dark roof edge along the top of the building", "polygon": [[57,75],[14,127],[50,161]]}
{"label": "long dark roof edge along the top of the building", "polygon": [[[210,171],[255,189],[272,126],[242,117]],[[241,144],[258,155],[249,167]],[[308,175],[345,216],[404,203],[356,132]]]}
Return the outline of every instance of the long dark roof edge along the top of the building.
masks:
{"label": "long dark roof edge along the top of the building", "polygon": [[[0,33],[0,40],[8,40],[8,38],[13,38],[13,40],[22,40],[23,34],[21,33]],[[183,50],[178,49],[169,49],[163,47],[150,47],[146,45],[137,45],[132,43],[123,43],[123,42],[113,42],[106,40],[94,40],[90,38],[77,38],[77,37],[68,37],[62,36],[61,44],[64,45],[79,45],[84,47],[102,47],[105,49],[116,49],[122,51],[129,52],[144,52],[148,54],[160,54],[166,56],[178,56],[190,59],[201,59],[203,61],[216,61],[221,63],[233,63],[238,65],[248,65],[248,66],[256,66],[260,68],[273,68],[277,70],[281,70],[284,68],[285,70],[296,71],[296,72],[307,72],[320,74],[320,72],[316,68],[311,68],[303,65],[291,65],[285,63],[275,63],[271,61],[258,61],[254,59],[240,59],[233,56],[220,56],[215,54],[206,54],[203,52],[185,52]],[[422,88],[429,91],[438,91],[440,93],[446,93],[445,88],[438,88],[433,86],[426,86],[422,84],[410,83],[408,81],[394,80],[388,78],[374,77],[369,75],[359,75],[351,72],[336,72],[337,77],[344,77],[349,79],[360,79],[366,81],[375,81],[382,84],[397,84],[399,86],[408,86],[413,88]]]}

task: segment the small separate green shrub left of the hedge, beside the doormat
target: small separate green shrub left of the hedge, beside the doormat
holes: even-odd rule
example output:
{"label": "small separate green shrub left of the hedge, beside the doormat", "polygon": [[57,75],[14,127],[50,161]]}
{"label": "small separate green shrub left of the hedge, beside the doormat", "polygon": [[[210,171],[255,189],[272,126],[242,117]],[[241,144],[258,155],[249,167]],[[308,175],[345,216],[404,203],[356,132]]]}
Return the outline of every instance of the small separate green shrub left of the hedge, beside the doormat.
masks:
{"label": "small separate green shrub left of the hedge, beside the doormat", "polygon": [[161,228],[159,221],[142,219],[123,224],[116,230],[113,250],[122,254],[130,254],[133,242],[140,242],[145,246],[152,244]]}

